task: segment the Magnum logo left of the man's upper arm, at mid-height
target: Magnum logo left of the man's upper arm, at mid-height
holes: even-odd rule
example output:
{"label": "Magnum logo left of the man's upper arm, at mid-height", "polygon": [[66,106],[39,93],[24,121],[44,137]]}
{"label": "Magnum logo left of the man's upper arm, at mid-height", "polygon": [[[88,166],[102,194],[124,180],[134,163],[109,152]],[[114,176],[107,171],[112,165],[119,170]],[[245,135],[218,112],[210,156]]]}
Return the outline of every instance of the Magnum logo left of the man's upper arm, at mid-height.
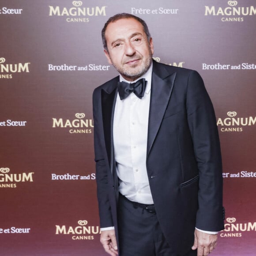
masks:
{"label": "Magnum logo left of the man's upper arm, at mid-height", "polygon": [[[75,119],[53,118],[53,128],[72,128],[70,133],[91,133],[93,126],[92,119],[84,119],[84,113],[76,113]],[[79,129],[78,129],[79,128]]]}

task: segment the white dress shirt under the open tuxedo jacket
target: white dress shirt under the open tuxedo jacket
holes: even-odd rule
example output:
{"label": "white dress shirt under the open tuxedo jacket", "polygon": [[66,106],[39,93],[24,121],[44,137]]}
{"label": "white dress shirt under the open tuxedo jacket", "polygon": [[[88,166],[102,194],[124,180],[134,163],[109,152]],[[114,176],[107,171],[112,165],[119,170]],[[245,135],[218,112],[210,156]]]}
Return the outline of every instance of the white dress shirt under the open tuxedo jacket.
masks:
{"label": "white dress shirt under the open tuxedo jacket", "polygon": [[[145,78],[147,81],[142,99],[134,93],[123,100],[120,100],[119,94],[117,95],[113,120],[119,192],[131,201],[144,204],[153,204],[146,168],[151,77],[152,64],[147,73],[139,78]],[[120,81],[131,83],[122,76]]]}

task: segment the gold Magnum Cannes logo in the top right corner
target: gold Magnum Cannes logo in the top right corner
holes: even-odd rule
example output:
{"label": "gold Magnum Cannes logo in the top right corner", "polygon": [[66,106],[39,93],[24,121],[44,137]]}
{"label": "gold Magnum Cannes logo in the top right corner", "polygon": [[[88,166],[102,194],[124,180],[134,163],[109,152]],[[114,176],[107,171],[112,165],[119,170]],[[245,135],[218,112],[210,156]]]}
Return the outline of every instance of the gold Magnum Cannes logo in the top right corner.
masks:
{"label": "gold Magnum Cannes logo in the top right corner", "polygon": [[[256,15],[256,7],[237,7],[237,1],[228,1],[228,7],[215,7],[215,6],[205,6],[204,15],[213,15],[213,16],[228,16],[222,17],[222,21],[244,21],[243,16],[252,16]],[[230,17],[233,16],[233,17]]]}

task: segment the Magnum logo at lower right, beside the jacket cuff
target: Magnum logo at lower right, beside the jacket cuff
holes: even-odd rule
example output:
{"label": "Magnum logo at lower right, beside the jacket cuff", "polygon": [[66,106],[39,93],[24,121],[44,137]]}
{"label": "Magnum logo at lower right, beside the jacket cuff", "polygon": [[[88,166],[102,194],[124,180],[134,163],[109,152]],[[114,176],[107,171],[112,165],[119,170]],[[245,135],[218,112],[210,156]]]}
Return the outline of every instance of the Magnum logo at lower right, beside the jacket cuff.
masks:
{"label": "Magnum logo at lower right, beside the jacket cuff", "polygon": [[226,218],[225,229],[221,237],[241,237],[242,232],[256,231],[256,222],[236,223],[236,218]]}

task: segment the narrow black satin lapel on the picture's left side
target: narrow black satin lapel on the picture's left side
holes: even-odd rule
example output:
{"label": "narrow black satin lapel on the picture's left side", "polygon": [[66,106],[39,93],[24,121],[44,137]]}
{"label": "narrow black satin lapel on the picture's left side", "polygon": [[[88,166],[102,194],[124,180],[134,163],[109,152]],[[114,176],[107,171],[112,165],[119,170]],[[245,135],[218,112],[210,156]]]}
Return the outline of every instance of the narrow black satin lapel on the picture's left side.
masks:
{"label": "narrow black satin lapel on the picture's left side", "polygon": [[[118,79],[117,79],[118,82]],[[110,87],[110,90],[102,89],[102,119],[104,128],[105,146],[109,159],[109,167],[113,172],[113,117],[117,99],[117,82]]]}

